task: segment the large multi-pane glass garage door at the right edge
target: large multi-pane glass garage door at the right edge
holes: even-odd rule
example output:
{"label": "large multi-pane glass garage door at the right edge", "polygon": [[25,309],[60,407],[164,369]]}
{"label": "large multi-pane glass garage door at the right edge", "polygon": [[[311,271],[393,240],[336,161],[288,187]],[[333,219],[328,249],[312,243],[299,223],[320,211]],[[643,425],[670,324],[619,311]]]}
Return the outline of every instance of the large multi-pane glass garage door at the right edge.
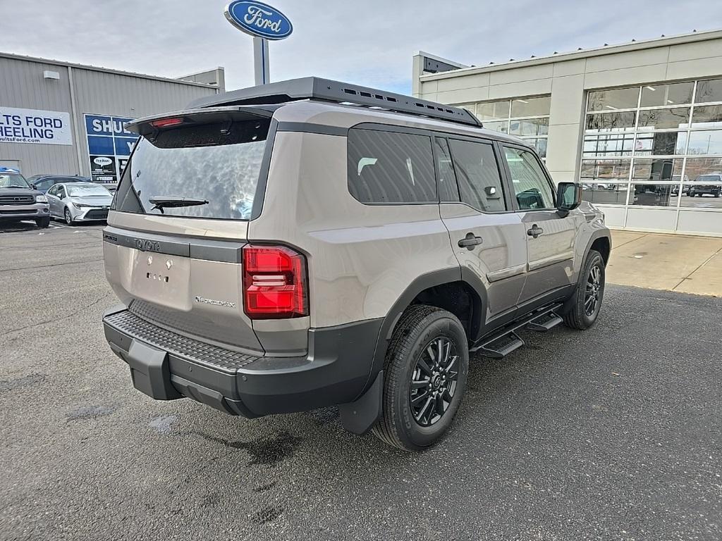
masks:
{"label": "large multi-pane glass garage door at the right edge", "polygon": [[612,226],[722,235],[722,79],[589,92],[580,182]]}

